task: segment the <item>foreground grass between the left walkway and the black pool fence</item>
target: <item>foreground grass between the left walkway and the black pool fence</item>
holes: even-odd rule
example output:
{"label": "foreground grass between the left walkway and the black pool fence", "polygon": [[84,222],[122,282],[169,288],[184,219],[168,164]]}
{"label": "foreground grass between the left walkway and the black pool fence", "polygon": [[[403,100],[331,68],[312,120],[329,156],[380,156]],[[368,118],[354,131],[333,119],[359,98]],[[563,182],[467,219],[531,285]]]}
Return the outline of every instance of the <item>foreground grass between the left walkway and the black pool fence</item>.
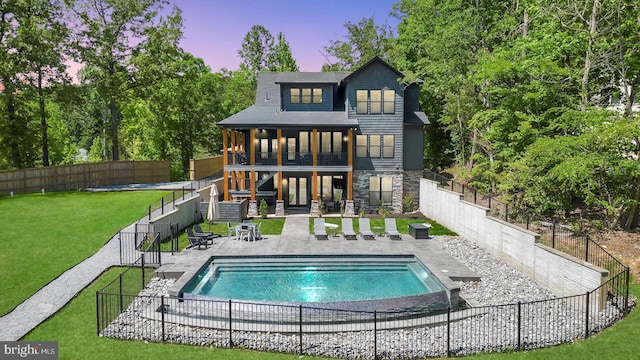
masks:
{"label": "foreground grass between the left walkway and the black pool fence", "polygon": [[[140,271],[140,269],[132,269]],[[27,334],[24,341],[58,341],[62,359],[225,359],[294,360],[298,355],[264,353],[241,349],[146,343],[115,340],[96,334],[96,291],[122,272],[113,268],[83,290],[53,317]],[[305,359],[319,359],[305,356]]]}

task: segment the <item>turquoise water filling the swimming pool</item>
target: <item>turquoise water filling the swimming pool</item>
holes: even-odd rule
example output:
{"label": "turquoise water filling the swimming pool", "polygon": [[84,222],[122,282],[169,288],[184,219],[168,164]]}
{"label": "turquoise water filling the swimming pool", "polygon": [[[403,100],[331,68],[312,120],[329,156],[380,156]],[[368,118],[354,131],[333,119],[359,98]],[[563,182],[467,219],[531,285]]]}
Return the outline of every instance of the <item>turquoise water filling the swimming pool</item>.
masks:
{"label": "turquoise water filling the swimming pool", "polygon": [[400,298],[445,288],[416,260],[210,262],[184,293],[225,299],[342,302]]}

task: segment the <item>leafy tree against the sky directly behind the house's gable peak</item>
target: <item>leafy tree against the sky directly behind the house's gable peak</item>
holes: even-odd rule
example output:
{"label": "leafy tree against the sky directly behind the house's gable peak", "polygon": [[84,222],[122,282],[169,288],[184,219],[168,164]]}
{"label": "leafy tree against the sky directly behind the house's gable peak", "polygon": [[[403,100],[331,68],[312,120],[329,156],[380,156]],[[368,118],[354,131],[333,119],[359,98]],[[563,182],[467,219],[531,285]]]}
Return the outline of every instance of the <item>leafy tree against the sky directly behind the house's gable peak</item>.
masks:
{"label": "leafy tree against the sky directly behind the house's gable peak", "polygon": [[[331,40],[324,46],[326,63],[322,71],[352,71],[375,56],[390,61],[393,32],[388,25],[376,25],[373,18],[357,24],[347,22],[346,41]],[[335,60],[331,60],[335,59]]]}

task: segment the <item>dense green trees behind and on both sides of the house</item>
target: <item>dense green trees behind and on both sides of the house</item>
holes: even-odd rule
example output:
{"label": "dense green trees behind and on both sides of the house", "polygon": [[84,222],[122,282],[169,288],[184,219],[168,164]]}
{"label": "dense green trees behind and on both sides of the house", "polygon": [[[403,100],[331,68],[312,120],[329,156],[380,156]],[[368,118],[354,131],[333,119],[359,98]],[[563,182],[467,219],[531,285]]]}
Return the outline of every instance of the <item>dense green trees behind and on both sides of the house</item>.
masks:
{"label": "dense green trees behind and on both sides of the house", "polygon": [[[630,0],[400,0],[391,28],[345,24],[323,71],[380,56],[419,82],[425,167],[548,217],[635,228],[640,5]],[[253,103],[259,71],[298,71],[254,25],[237,70],[182,50],[165,0],[0,0],[0,169],[217,154],[214,126]],[[84,65],[71,81],[69,60]]]}

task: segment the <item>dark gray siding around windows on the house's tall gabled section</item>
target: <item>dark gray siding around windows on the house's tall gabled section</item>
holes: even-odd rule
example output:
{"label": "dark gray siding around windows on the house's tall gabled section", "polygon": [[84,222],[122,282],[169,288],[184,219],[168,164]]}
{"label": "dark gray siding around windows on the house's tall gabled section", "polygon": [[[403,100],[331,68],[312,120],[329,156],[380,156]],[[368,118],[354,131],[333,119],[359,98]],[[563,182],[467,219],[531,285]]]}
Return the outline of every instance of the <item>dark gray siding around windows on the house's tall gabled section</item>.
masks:
{"label": "dark gray siding around windows on the house's tall gabled section", "polygon": [[[356,114],[356,90],[381,90],[385,87],[396,91],[395,114]],[[398,82],[398,74],[379,62],[373,62],[349,80],[346,98],[348,117],[358,119],[360,124],[356,134],[395,136],[393,159],[355,157],[354,136],[354,169],[401,170],[404,155],[402,146],[404,91],[402,84]]]}

